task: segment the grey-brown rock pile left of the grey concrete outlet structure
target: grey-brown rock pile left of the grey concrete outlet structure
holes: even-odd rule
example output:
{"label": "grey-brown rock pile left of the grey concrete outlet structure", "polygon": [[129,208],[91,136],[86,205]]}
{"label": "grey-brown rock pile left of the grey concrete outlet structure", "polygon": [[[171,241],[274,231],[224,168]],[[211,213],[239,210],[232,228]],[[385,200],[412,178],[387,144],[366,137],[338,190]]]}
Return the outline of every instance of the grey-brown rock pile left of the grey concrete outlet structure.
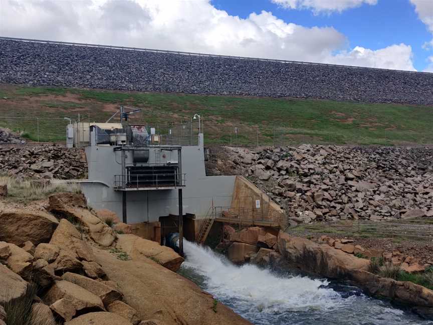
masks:
{"label": "grey-brown rock pile left of the grey concrete outlet structure", "polygon": [[81,149],[60,146],[0,147],[3,173],[44,179],[80,179],[87,175],[87,160]]}

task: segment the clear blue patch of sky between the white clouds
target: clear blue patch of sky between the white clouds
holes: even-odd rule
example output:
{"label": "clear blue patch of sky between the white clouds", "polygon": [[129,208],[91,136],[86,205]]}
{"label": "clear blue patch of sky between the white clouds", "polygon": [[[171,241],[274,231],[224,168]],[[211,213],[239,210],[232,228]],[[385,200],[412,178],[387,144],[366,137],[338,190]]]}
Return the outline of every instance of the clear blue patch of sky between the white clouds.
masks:
{"label": "clear blue patch of sky between the white clouds", "polygon": [[362,46],[378,50],[404,43],[412,47],[413,66],[418,71],[426,68],[428,57],[433,55],[431,50],[423,49],[424,43],[431,40],[431,34],[408,0],[379,0],[374,6],[364,4],[342,13],[319,14],[314,14],[310,9],[285,9],[267,0],[213,0],[212,4],[217,9],[242,18],[247,18],[252,12],[265,10],[287,23],[307,27],[332,26],[347,37],[349,48]]}

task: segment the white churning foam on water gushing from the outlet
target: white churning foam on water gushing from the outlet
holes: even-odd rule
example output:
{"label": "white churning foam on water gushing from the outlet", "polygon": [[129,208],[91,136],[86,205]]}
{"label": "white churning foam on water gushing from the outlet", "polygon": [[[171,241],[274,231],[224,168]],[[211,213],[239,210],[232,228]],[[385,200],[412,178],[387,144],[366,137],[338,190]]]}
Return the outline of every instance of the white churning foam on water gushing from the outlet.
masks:
{"label": "white churning foam on water gushing from the outlet", "polygon": [[322,288],[328,281],[302,276],[278,277],[255,265],[233,265],[208,248],[184,242],[186,266],[206,277],[207,289],[217,296],[230,296],[261,311],[276,309],[328,309],[343,299],[333,289]]}

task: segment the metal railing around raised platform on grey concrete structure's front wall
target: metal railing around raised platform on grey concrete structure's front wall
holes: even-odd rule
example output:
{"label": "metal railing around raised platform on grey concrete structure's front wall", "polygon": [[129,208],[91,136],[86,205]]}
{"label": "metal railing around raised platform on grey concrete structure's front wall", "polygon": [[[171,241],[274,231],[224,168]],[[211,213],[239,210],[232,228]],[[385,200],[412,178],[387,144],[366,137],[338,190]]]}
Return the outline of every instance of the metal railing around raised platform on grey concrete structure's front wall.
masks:
{"label": "metal railing around raised platform on grey concrete structure's front wall", "polygon": [[116,189],[176,188],[185,186],[186,174],[120,174],[114,175]]}

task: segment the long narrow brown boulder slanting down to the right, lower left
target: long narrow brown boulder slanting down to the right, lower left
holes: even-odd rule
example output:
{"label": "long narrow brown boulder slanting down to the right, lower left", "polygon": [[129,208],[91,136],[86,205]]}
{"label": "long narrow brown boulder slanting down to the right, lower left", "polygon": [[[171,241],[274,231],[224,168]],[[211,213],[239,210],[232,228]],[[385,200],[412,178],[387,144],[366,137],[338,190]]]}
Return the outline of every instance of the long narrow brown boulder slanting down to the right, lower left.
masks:
{"label": "long narrow brown boulder slanting down to the right, lower left", "polygon": [[121,300],[123,298],[122,294],[119,291],[83,275],[67,272],[63,274],[62,279],[75,283],[97,295],[101,298],[104,306],[108,306],[113,301]]}

